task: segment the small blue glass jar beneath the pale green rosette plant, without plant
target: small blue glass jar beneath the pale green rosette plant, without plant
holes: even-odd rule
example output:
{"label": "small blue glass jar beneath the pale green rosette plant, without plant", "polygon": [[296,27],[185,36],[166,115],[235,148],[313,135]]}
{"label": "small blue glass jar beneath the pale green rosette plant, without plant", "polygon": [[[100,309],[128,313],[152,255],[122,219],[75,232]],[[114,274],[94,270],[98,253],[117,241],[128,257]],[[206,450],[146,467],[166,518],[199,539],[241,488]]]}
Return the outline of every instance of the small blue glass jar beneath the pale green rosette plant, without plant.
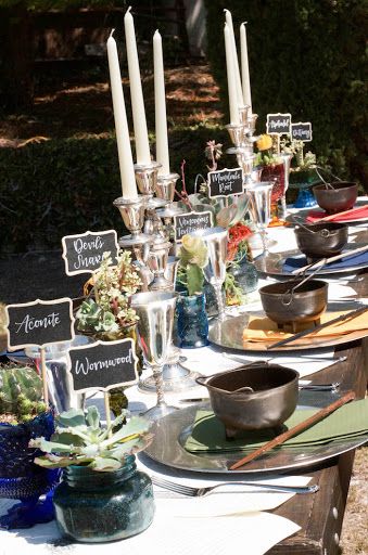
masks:
{"label": "small blue glass jar beneath the pale green rosette plant, without plant", "polygon": [[208,345],[208,319],[204,293],[199,295],[180,293],[176,312],[178,347],[194,349]]}

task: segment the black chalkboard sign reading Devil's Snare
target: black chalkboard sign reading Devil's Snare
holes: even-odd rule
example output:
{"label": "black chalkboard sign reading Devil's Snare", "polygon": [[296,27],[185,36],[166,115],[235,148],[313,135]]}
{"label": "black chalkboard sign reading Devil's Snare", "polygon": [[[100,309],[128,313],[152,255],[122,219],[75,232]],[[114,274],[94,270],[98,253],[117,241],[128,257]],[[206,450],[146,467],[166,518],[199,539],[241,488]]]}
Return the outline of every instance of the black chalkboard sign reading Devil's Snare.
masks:
{"label": "black chalkboard sign reading Devil's Snare", "polygon": [[62,245],[67,275],[92,273],[100,267],[103,253],[111,253],[113,262],[118,253],[115,230],[86,231],[81,235],[65,235],[62,238]]}

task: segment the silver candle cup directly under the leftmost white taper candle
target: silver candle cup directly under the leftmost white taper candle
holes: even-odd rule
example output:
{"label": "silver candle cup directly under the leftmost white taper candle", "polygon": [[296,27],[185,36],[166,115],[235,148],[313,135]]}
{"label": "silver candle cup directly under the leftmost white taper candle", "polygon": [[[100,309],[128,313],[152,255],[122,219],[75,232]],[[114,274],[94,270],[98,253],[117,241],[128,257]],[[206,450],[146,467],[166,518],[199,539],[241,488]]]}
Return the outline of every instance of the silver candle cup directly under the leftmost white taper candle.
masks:
{"label": "silver candle cup directly under the leftmost white taper candle", "polygon": [[119,196],[115,198],[113,204],[119,210],[125,227],[130,231],[130,235],[125,235],[118,240],[119,246],[122,248],[132,248],[150,243],[152,236],[141,232],[147,207],[144,195],[138,195],[137,198]]}

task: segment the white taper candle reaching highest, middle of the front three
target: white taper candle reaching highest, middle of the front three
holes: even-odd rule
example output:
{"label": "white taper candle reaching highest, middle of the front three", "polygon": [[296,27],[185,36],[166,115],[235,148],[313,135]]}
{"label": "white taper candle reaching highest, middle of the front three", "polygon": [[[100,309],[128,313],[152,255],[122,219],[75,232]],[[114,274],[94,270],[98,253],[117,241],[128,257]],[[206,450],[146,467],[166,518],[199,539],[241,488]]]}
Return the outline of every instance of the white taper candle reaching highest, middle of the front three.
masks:
{"label": "white taper candle reaching highest, middle of the front three", "polygon": [[137,164],[150,164],[150,144],[147,131],[142,83],[139,70],[135,22],[128,8],[124,16],[125,40],[128,57],[132,122],[136,137]]}

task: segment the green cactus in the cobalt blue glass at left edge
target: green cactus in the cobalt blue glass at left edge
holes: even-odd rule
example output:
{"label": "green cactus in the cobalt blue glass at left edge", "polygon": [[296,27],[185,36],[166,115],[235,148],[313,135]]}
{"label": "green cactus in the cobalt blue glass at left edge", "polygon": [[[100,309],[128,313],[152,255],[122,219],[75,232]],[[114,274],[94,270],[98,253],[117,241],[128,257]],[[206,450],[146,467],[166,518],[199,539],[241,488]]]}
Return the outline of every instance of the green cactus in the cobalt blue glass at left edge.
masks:
{"label": "green cactus in the cobalt blue glass at left edge", "polygon": [[42,380],[31,366],[0,366],[0,421],[28,422],[47,410],[42,402]]}

